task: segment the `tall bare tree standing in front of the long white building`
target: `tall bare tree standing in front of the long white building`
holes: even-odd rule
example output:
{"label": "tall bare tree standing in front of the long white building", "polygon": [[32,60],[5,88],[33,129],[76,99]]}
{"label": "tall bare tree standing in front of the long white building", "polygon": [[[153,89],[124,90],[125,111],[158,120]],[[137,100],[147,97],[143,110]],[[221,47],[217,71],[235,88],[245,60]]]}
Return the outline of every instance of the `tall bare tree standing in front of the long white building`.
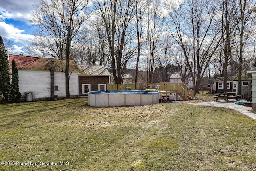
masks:
{"label": "tall bare tree standing in front of the long white building", "polygon": [[43,56],[53,56],[63,62],[66,98],[70,97],[69,62],[83,36],[81,28],[88,18],[87,4],[87,0],[39,0],[32,12],[31,23],[37,27],[34,47]]}

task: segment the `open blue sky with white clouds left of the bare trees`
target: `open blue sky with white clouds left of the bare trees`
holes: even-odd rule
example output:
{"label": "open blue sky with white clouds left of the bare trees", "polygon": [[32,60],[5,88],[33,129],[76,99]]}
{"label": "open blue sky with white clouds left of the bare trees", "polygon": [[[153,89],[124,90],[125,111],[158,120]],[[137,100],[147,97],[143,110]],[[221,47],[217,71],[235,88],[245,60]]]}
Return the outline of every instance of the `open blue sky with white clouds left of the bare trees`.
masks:
{"label": "open blue sky with white clouds left of the bare trees", "polygon": [[12,49],[8,49],[10,54],[28,55],[27,46],[34,39],[34,28],[29,20],[32,4],[36,3],[38,0],[0,0],[0,34],[12,42]]}

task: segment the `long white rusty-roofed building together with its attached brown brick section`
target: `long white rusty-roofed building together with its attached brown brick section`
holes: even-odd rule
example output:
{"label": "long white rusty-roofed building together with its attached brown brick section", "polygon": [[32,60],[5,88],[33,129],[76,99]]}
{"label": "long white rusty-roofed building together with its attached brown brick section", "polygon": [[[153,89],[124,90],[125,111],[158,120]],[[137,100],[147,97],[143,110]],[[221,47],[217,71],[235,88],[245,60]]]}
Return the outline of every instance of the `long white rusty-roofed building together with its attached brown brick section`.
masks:
{"label": "long white rusty-roofed building together with its attached brown brick section", "polygon": [[[13,59],[18,68],[21,101],[26,100],[28,93],[32,94],[32,101],[66,97],[65,73],[62,72],[65,60],[9,55],[10,68]],[[71,60],[69,71],[71,97],[87,95],[88,91],[105,90],[110,82],[110,74],[104,66],[78,65]]]}

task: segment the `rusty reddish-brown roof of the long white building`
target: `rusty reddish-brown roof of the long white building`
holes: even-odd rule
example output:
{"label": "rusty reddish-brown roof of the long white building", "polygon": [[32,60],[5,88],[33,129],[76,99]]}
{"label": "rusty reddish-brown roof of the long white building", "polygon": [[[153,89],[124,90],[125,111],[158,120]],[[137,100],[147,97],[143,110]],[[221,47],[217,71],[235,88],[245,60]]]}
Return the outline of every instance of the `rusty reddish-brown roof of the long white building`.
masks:
{"label": "rusty reddish-brown roof of the long white building", "polygon": [[[50,70],[50,62],[54,61],[54,69],[65,71],[65,60],[58,60],[52,58],[37,58],[31,56],[9,55],[9,66],[12,68],[12,60],[15,60],[18,69],[31,70]],[[63,69],[62,69],[63,68]],[[69,62],[70,71],[78,71],[78,66],[71,60]]]}

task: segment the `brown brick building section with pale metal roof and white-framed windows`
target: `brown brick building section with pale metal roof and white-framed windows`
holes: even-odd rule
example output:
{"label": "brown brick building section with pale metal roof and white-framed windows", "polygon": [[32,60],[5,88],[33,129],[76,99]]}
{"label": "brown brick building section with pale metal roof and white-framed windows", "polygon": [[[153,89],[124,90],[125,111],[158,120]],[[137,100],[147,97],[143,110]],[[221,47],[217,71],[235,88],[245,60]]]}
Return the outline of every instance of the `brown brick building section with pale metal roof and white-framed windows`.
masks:
{"label": "brown brick building section with pale metal roof and white-framed windows", "polygon": [[106,91],[111,74],[104,66],[78,65],[79,96],[88,96],[89,91]]}

